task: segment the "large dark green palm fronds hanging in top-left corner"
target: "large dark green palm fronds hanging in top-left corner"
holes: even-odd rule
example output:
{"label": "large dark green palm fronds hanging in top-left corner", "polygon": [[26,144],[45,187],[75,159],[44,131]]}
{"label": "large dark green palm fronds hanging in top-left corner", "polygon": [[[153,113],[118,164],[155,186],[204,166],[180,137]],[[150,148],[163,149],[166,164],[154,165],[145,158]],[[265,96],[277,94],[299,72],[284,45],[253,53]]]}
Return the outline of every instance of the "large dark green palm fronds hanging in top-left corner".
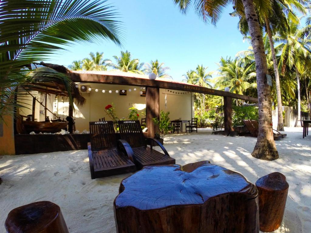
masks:
{"label": "large dark green palm fronds hanging in top-left corner", "polygon": [[[22,106],[16,96],[24,92],[19,87],[30,85],[31,72],[25,69],[29,64],[48,59],[50,54],[63,49],[60,45],[72,42],[106,39],[121,44],[122,26],[115,20],[113,7],[105,3],[96,0],[87,4],[82,0],[1,2],[0,120],[12,116],[13,109]],[[46,80],[52,75],[59,77],[66,82],[70,93],[67,75],[47,67],[38,68],[36,74]]]}

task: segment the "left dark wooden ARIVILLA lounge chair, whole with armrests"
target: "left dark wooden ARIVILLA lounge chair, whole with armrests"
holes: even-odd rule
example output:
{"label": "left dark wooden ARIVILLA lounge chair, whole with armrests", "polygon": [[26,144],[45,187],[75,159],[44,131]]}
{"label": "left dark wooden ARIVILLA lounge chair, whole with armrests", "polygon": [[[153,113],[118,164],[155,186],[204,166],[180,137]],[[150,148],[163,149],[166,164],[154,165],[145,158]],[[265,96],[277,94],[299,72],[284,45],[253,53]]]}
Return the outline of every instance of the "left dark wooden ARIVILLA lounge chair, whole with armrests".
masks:
{"label": "left dark wooden ARIVILLA lounge chair, whole with armrests", "polygon": [[117,140],[113,121],[90,122],[91,143],[87,144],[91,178],[136,171],[130,145]]}

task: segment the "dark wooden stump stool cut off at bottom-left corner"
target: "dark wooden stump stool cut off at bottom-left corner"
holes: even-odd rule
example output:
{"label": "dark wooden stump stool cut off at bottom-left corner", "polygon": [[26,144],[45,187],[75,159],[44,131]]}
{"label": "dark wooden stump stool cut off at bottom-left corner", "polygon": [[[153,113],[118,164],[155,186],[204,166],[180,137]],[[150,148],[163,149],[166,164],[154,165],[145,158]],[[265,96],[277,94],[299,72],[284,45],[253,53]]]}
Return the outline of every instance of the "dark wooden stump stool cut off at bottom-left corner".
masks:
{"label": "dark wooden stump stool cut off at bottom-left corner", "polygon": [[8,233],[68,233],[59,206],[49,201],[34,202],[11,210],[5,228]]}

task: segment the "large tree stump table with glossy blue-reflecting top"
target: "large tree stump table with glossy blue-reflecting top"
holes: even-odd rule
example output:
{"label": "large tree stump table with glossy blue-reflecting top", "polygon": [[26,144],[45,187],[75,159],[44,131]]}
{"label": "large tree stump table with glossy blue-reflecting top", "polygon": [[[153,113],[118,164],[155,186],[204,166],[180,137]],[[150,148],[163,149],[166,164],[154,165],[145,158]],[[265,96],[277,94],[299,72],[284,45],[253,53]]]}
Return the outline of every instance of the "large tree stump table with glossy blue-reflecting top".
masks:
{"label": "large tree stump table with glossy blue-reflecting top", "polygon": [[209,161],[146,166],[114,200],[118,233],[259,233],[258,191]]}

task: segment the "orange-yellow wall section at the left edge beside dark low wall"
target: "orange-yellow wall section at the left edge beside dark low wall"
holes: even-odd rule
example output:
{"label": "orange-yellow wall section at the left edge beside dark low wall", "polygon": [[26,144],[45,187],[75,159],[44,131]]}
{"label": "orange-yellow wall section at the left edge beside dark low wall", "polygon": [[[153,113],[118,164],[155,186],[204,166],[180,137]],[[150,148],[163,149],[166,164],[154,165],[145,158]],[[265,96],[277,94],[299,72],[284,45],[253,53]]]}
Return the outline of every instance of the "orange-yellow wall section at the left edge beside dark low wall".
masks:
{"label": "orange-yellow wall section at the left edge beside dark low wall", "polygon": [[[4,116],[3,131],[0,134],[0,155],[15,154],[13,117]],[[2,134],[3,133],[3,134]]]}

